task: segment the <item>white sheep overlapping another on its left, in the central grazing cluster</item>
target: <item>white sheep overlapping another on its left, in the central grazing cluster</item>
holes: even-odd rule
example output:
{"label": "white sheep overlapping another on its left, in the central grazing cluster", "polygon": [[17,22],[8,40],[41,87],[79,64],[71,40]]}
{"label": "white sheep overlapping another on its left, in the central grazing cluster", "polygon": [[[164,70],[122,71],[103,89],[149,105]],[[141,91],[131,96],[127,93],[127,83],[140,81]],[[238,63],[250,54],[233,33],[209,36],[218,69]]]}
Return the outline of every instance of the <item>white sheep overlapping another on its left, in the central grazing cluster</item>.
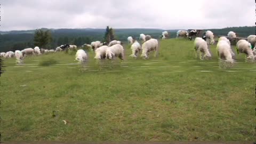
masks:
{"label": "white sheep overlapping another on its left, in the central grazing cluster", "polygon": [[114,57],[124,60],[124,47],[121,44],[115,44],[106,50],[107,59],[113,60]]}

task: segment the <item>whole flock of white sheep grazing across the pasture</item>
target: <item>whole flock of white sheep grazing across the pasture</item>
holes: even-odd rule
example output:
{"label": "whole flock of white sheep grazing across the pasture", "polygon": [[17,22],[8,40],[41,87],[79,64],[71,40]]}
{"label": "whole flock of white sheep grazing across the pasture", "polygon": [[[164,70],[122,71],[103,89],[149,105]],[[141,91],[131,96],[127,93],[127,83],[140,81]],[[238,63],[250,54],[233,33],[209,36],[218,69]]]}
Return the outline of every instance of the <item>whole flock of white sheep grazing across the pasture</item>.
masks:
{"label": "whole flock of white sheep grazing across the pasture", "polygon": [[[178,37],[189,37],[191,40],[192,36],[196,36],[197,30],[178,30],[177,31],[177,38]],[[163,31],[161,38],[165,39],[168,37],[168,32]],[[236,37],[236,34],[233,31],[229,31],[228,33],[229,37]],[[199,57],[201,60],[203,59],[211,59],[212,55],[208,49],[208,45],[212,45],[214,41],[214,35],[212,31],[207,30],[203,37],[196,37],[194,41],[194,49],[196,52],[201,52],[201,57]],[[127,41],[131,45],[131,51],[132,54],[130,57],[138,58],[139,54],[141,53],[141,57],[144,59],[149,58],[150,52],[155,52],[155,57],[158,51],[158,41],[157,39],[152,38],[150,35],[144,35],[140,34],[139,37],[142,45],[135,41],[131,36],[127,38]],[[244,39],[241,39],[236,44],[237,54],[238,53],[245,53],[246,59],[252,59],[256,60],[256,50],[255,50],[255,41],[256,36],[250,35],[247,37],[247,41]],[[254,48],[252,48],[252,45],[254,45]],[[100,41],[92,42],[91,44],[84,44],[82,45],[83,48],[89,48],[92,49],[95,57],[94,59],[102,60],[102,59],[109,59],[113,60],[116,57],[118,57],[121,60],[124,60],[124,47],[123,43],[121,41],[111,41],[108,43],[104,42],[101,43]],[[77,51],[75,55],[75,60],[78,62],[86,62],[88,60],[88,54],[84,50],[77,50],[76,45],[61,45],[58,46],[55,50],[46,50],[46,49],[39,49],[38,46],[36,46],[34,49],[27,48],[22,51],[16,50],[15,52],[9,51],[9,52],[2,52],[0,53],[1,58],[12,58],[15,57],[17,59],[17,63],[23,63],[23,59],[26,57],[26,55],[41,55],[45,53],[53,53],[53,52],[60,52],[64,50],[74,50]],[[231,49],[230,41],[226,37],[220,37],[218,39],[217,44],[217,54],[219,59],[226,60],[228,62],[233,63],[234,62],[234,56],[235,53]]]}

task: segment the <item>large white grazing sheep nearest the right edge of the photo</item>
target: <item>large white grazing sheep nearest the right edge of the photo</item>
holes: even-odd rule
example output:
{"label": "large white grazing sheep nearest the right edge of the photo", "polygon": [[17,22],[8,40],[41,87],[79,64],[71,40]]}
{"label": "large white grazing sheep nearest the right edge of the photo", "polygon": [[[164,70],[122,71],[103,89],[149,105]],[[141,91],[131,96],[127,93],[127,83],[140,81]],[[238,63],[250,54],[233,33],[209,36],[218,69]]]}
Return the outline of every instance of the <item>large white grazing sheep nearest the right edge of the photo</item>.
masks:
{"label": "large white grazing sheep nearest the right edge of the photo", "polygon": [[246,59],[255,59],[256,56],[253,54],[251,49],[251,43],[247,42],[245,39],[241,39],[236,43],[237,54],[245,53]]}

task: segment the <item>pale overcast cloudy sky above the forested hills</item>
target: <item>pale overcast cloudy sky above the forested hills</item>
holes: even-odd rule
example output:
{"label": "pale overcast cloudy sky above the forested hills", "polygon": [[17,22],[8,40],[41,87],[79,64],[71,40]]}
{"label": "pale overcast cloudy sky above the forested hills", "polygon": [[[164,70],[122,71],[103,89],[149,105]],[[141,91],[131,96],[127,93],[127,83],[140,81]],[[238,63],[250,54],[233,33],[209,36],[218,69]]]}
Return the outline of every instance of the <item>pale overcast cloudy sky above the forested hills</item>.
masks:
{"label": "pale overcast cloudy sky above the forested hills", "polygon": [[254,26],[253,0],[0,0],[0,30]]}

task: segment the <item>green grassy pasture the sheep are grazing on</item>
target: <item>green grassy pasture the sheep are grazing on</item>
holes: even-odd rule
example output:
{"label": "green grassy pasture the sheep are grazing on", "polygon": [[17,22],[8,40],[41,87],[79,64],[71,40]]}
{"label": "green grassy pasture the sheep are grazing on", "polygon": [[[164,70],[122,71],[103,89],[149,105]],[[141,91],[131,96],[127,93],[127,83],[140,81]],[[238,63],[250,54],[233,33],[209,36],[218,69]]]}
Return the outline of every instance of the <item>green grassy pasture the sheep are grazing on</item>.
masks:
{"label": "green grassy pasture the sheep are grazing on", "polygon": [[100,65],[92,52],[85,65],[64,52],[5,60],[1,140],[255,141],[256,65],[245,55],[219,68],[215,46],[201,61],[185,39],[161,40],[149,60],[125,49],[123,62]]}

